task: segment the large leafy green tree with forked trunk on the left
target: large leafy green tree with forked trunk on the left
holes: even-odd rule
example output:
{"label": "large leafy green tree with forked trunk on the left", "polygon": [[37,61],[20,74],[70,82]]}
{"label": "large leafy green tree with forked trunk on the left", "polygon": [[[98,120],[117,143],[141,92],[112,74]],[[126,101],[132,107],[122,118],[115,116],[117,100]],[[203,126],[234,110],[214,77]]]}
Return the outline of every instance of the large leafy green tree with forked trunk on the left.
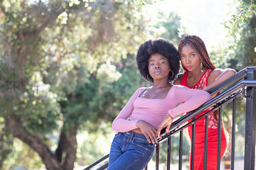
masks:
{"label": "large leafy green tree with forked trunk on the left", "polygon": [[[46,169],[73,169],[78,130],[112,120],[126,102],[119,98],[113,105],[118,93],[109,88],[122,75],[115,63],[121,56],[129,59],[146,38],[135,6],[136,1],[0,2],[0,118],[4,130],[33,148]],[[54,148],[49,136],[55,130],[60,136]]]}

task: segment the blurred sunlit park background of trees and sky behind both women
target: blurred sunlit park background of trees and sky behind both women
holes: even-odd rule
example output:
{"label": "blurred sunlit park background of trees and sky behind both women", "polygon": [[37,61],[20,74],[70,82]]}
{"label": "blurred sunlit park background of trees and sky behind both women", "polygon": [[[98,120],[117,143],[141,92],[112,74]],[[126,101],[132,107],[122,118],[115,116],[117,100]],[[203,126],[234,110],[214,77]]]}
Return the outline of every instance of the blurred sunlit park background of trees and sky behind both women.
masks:
{"label": "blurred sunlit park background of trees and sky behind both women", "polygon": [[[146,40],[177,47],[184,35],[198,35],[216,67],[255,66],[255,8],[255,0],[0,1],[0,169],[82,169],[107,154],[112,120],[134,91],[150,86],[135,62]],[[223,111],[230,127],[230,108]]]}

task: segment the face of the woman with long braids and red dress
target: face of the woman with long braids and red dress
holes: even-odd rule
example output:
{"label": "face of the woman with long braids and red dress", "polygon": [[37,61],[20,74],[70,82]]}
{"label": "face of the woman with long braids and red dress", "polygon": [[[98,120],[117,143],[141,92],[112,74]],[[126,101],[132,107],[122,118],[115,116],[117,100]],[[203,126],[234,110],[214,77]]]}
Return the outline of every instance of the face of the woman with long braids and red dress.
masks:
{"label": "face of the woman with long braids and red dress", "polygon": [[191,45],[185,45],[181,49],[181,63],[189,72],[200,69],[201,60],[198,52],[191,47]]}

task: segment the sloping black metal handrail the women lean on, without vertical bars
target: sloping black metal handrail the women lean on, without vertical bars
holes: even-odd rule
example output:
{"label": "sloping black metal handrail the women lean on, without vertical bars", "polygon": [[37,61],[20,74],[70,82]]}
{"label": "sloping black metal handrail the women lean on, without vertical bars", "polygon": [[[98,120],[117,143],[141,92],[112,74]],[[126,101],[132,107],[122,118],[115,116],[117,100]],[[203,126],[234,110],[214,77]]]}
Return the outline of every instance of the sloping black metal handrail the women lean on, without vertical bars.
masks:
{"label": "sloping black metal handrail the women lean on, without vertical bars", "polygon": [[[207,113],[213,112],[213,111],[217,110],[220,106],[222,106],[223,103],[230,101],[232,98],[235,98],[238,95],[243,94],[243,90],[244,90],[243,88],[245,86],[256,86],[256,81],[245,80],[245,78],[247,77],[247,72],[256,72],[256,67],[245,67],[240,72],[235,74],[233,77],[230,77],[229,79],[223,81],[223,83],[219,84],[218,86],[215,86],[213,89],[208,91],[212,95],[217,94],[219,91],[223,91],[228,86],[236,83],[234,86],[223,91],[218,96],[215,96],[215,98],[212,98],[210,101],[204,103],[202,106],[200,106],[196,110],[191,111],[186,115],[183,115],[181,118],[178,118],[178,120],[174,121],[171,124],[171,128],[170,128],[169,132],[166,132],[166,128],[163,128],[161,130],[162,138],[158,139],[158,142],[163,142],[164,140],[168,139],[171,135],[174,135],[176,132],[180,132],[183,128],[188,127],[188,125],[190,125],[191,123],[187,123],[186,125],[183,125],[183,124],[186,123],[191,118],[194,118],[199,113],[202,113],[207,108],[213,107]],[[193,121],[199,120],[200,118],[205,116],[207,113],[204,113],[203,115],[201,115],[200,117],[196,118]],[[180,127],[181,125],[183,125],[183,127]],[[85,168],[84,170],[91,169],[93,166],[99,164],[100,162],[103,162],[108,157],[109,157],[109,154],[105,155],[105,157],[102,157],[102,159],[99,159],[97,162],[91,164],[90,166],[87,166],[87,168]],[[108,163],[103,164],[102,166],[100,166],[100,168],[98,168],[98,170],[105,169],[105,168],[107,168],[107,166],[108,166]]]}

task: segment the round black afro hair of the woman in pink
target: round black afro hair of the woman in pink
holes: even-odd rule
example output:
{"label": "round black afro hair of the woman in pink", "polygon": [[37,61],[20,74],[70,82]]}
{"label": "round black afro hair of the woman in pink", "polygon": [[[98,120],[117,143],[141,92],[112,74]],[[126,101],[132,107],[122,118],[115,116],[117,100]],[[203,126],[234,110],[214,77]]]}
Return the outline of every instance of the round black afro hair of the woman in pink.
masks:
{"label": "round black afro hair of the woman in pink", "polygon": [[149,74],[149,58],[156,53],[163,55],[169,61],[171,71],[174,72],[174,74],[172,72],[169,73],[169,81],[176,79],[180,68],[178,50],[173,43],[164,39],[148,40],[140,45],[136,61],[142,77],[147,81],[153,82],[153,78]]}

